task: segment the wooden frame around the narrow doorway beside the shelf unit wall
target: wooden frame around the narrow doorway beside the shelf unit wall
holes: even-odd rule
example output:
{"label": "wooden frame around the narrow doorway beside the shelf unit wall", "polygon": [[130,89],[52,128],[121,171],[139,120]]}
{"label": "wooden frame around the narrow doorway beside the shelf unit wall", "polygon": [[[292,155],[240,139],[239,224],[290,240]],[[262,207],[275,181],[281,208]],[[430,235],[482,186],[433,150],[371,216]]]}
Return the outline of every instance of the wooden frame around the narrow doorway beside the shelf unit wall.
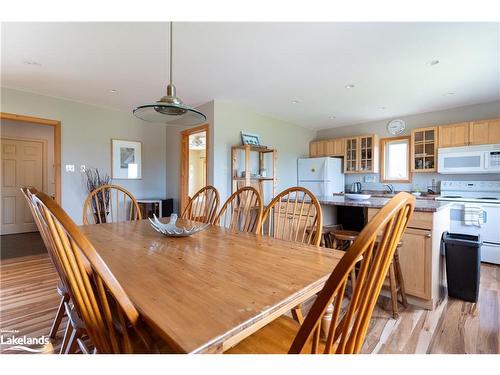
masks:
{"label": "wooden frame around the narrow doorway beside the shelf unit wall", "polygon": [[208,184],[208,164],[209,164],[209,147],[210,133],[208,124],[189,128],[181,132],[181,172],[180,172],[180,190],[179,190],[179,214],[182,214],[188,203],[189,196],[189,136],[205,132],[207,135],[207,146],[205,148],[206,163],[205,163],[205,180]]}

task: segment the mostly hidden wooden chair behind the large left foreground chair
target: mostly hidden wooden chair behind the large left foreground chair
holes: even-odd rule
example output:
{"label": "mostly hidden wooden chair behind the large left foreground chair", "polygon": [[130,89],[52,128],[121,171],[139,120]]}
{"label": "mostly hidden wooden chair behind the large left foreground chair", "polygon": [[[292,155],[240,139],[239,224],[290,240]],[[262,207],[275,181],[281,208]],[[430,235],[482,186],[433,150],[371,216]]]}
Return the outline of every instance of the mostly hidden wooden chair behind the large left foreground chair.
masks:
{"label": "mostly hidden wooden chair behind the large left foreground chair", "polygon": [[52,250],[52,244],[50,242],[50,237],[47,233],[46,230],[41,226],[40,224],[40,218],[37,214],[37,211],[35,210],[35,207],[33,206],[33,201],[31,198],[31,195],[33,193],[37,193],[38,190],[35,188],[26,188],[23,187],[21,188],[21,192],[23,193],[24,197],[26,198],[26,202],[28,203],[28,207],[31,211],[31,214],[33,215],[33,219],[35,220],[35,223],[37,225],[37,228],[40,232],[40,236],[42,237],[43,243],[45,245],[45,248],[47,249],[47,253],[49,255],[50,260],[52,261],[52,264],[54,265],[56,272],[59,276],[60,282],[57,284],[57,293],[61,296],[61,301],[59,302],[59,306],[57,308],[56,316],[54,318],[54,321],[52,323],[52,327],[49,332],[49,338],[55,339],[57,336],[57,331],[59,330],[59,326],[61,325],[61,322],[66,315],[66,310],[65,306],[69,302],[69,293],[68,293],[68,288],[66,286],[66,282],[64,281],[64,276],[60,270],[60,267],[58,266],[57,260],[54,259],[53,252]]}

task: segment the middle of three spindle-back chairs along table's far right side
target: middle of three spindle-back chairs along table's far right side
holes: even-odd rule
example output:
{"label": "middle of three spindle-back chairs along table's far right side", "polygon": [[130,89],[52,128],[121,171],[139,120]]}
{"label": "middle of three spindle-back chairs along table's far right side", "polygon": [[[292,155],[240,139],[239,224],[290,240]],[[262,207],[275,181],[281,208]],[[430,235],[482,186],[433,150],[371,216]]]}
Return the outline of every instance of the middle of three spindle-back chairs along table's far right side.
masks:
{"label": "middle of three spindle-back chairs along table's far right side", "polygon": [[239,232],[257,233],[262,222],[262,199],[255,188],[244,186],[227,199],[214,223]]}

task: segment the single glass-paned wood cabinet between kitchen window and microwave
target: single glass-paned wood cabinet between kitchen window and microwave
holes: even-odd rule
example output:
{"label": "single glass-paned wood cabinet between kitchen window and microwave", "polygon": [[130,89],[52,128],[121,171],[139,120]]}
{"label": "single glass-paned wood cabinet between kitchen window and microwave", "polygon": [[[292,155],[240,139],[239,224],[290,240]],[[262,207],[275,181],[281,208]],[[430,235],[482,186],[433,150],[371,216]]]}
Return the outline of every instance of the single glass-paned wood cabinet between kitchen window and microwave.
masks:
{"label": "single glass-paned wood cabinet between kitchen window and microwave", "polygon": [[413,129],[412,172],[435,172],[437,163],[437,127]]}

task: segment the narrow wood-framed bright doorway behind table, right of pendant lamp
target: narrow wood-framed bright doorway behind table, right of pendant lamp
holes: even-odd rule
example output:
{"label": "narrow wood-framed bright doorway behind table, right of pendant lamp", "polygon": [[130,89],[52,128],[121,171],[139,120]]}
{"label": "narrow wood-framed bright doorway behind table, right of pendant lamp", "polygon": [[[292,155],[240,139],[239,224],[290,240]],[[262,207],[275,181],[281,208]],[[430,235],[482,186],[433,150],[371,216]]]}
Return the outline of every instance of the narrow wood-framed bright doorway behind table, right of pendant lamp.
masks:
{"label": "narrow wood-framed bright doorway behind table, right of pendant lamp", "polygon": [[207,185],[208,125],[181,133],[181,189],[179,212],[184,211],[189,197]]}

